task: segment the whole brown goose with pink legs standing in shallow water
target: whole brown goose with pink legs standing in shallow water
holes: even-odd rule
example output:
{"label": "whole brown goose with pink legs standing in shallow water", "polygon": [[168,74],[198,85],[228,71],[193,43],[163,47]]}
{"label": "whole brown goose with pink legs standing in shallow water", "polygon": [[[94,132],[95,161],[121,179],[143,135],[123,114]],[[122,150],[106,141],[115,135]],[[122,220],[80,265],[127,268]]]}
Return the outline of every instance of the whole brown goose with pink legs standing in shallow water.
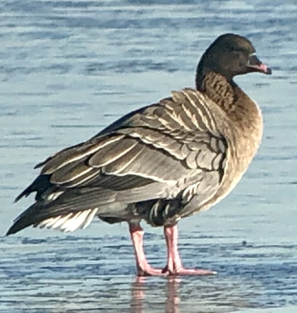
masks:
{"label": "whole brown goose with pink legs standing in shallow water", "polygon": [[224,198],[256,153],[261,111],[233,81],[254,71],[271,74],[248,39],[218,37],[197,66],[196,90],[173,91],[38,164],[40,175],[16,198],[36,192],[36,201],[7,234],[29,225],[73,231],[94,216],[127,221],[138,275],[160,274],[143,261],[139,222],[144,219],[164,226],[164,273],[211,274],[183,269],[176,223]]}

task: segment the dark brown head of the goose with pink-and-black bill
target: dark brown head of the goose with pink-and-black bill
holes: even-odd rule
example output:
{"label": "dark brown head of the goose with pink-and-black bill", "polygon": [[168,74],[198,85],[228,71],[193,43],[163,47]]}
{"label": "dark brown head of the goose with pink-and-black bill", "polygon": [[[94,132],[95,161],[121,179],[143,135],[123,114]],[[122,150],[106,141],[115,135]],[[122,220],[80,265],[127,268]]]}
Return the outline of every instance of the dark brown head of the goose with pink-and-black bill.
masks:
{"label": "dark brown head of the goose with pink-and-black bill", "polygon": [[228,81],[235,75],[251,72],[271,74],[271,69],[257,58],[252,43],[235,34],[224,34],[216,38],[202,55],[197,66],[197,88],[208,71],[222,74]]}

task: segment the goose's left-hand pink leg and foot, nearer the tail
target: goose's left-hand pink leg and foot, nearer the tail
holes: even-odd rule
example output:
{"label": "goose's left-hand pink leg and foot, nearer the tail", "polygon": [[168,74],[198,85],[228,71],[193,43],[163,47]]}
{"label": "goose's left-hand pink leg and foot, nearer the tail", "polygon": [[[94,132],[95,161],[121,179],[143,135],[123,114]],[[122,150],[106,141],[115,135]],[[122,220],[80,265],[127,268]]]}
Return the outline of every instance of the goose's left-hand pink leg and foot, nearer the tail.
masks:
{"label": "goose's left-hand pink leg and foot, nearer the tail", "polygon": [[143,251],[143,234],[144,231],[139,224],[129,223],[129,232],[132,239],[135,260],[137,266],[137,276],[153,276],[153,275],[164,275],[162,269],[152,268]]}

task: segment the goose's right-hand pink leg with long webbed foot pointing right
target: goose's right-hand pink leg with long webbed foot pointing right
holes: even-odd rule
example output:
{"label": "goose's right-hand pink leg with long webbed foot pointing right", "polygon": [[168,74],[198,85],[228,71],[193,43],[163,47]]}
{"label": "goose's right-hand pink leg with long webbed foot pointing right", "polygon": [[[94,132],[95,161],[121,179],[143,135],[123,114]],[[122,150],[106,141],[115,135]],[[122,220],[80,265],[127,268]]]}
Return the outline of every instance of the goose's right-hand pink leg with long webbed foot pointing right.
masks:
{"label": "goose's right-hand pink leg with long webbed foot pointing right", "polygon": [[167,244],[167,268],[169,275],[214,275],[216,272],[206,269],[185,269],[181,264],[177,248],[178,230],[177,225],[164,227]]}

